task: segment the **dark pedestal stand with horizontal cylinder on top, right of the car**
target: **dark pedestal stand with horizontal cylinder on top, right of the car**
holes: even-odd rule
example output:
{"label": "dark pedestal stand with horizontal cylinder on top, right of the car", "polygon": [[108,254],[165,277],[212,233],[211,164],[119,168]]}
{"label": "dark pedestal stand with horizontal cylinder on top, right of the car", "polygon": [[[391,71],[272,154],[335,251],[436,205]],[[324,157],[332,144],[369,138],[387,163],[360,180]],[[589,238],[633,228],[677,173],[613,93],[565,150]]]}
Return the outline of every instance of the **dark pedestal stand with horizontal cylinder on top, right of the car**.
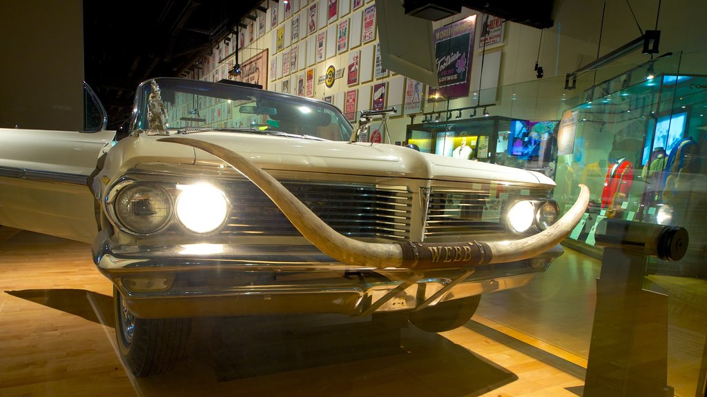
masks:
{"label": "dark pedestal stand with horizontal cylinder on top, right of the car", "polygon": [[604,219],[584,396],[673,396],[667,385],[667,295],[643,290],[643,259],[678,261],[688,235],[682,227]]}

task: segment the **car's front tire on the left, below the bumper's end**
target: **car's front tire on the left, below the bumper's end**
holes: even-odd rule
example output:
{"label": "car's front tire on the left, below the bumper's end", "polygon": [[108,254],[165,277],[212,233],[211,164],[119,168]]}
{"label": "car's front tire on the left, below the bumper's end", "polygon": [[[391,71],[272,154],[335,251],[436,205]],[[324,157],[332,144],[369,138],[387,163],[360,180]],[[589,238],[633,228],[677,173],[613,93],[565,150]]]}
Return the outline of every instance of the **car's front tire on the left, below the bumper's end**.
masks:
{"label": "car's front tire on the left, below the bumper's end", "polygon": [[135,377],[172,369],[186,345],[191,319],[141,319],[123,304],[113,287],[115,336],[122,359]]}

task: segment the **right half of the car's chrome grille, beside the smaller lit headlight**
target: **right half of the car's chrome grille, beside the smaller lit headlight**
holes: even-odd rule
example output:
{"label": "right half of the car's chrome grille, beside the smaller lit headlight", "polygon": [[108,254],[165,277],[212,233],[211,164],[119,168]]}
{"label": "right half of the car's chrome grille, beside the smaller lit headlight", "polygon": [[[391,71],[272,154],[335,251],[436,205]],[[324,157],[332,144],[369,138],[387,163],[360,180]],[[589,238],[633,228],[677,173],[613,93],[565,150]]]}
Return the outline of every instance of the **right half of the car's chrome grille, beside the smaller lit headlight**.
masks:
{"label": "right half of the car's chrome grille, beside the smaller lit headlight", "polygon": [[507,201],[495,195],[490,197],[488,190],[433,189],[427,208],[425,237],[506,232],[501,214]]}

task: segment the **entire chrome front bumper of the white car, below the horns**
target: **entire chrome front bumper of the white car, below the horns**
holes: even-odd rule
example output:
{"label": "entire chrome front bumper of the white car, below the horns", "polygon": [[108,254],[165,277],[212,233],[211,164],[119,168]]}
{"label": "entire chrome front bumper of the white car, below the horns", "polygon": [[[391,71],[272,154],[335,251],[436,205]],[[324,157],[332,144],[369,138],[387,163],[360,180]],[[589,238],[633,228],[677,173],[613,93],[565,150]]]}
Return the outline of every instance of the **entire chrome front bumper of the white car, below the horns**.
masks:
{"label": "entire chrome front bumper of the white car, below the horns", "polygon": [[527,261],[415,273],[352,268],[315,247],[93,244],[98,269],[143,318],[414,310],[446,300],[518,288],[562,254]]}

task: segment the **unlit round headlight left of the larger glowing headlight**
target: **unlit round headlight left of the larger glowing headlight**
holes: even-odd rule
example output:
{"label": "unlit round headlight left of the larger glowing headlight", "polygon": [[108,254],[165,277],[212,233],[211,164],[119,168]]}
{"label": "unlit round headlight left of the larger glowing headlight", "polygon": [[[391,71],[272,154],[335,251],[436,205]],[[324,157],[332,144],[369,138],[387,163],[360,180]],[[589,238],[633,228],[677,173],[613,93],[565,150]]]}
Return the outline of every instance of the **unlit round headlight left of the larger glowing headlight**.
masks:
{"label": "unlit round headlight left of the larger glowing headlight", "polygon": [[130,184],[115,199],[115,215],[124,227],[139,235],[149,235],[167,225],[172,200],[160,186]]}

